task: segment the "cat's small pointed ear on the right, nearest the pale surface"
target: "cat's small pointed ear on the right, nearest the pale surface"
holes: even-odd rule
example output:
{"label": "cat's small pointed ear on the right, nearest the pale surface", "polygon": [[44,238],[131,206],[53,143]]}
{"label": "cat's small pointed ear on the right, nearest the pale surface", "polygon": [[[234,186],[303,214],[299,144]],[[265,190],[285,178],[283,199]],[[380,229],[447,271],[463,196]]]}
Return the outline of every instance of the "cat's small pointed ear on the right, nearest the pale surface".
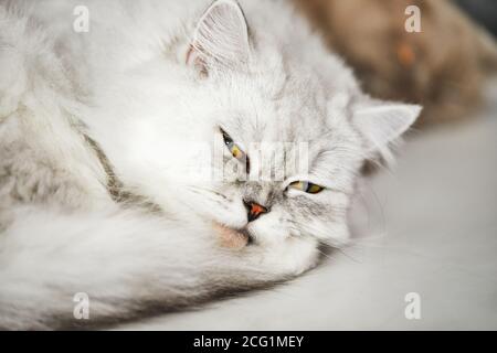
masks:
{"label": "cat's small pointed ear on the right, nearest the pale surface", "polygon": [[352,108],[352,124],[364,139],[367,153],[382,152],[417,119],[422,107],[369,99]]}

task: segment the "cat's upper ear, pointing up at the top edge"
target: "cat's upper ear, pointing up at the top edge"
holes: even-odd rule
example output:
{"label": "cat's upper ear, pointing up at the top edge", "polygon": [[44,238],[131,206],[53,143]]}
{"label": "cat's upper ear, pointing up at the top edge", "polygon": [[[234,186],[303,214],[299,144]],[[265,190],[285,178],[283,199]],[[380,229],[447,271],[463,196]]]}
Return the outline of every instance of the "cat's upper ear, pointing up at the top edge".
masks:
{"label": "cat's upper ear, pointing up at the top edge", "polygon": [[200,18],[186,61],[208,73],[214,65],[233,68],[247,61],[248,28],[234,0],[216,0]]}

